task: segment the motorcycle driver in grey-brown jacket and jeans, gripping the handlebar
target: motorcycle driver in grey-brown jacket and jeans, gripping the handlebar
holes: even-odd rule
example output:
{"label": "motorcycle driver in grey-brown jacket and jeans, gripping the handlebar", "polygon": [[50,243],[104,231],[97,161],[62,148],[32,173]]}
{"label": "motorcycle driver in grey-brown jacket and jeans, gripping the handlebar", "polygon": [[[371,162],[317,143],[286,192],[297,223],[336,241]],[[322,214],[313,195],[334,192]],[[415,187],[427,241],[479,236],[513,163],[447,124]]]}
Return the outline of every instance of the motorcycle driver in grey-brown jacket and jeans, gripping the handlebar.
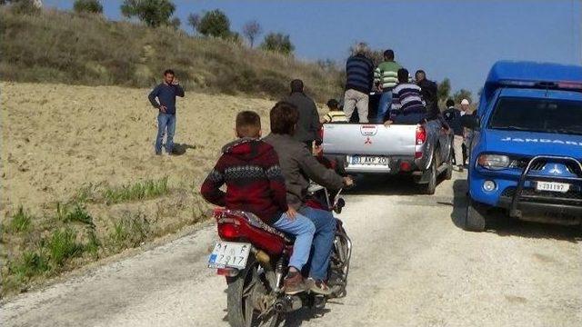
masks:
{"label": "motorcycle driver in grey-brown jacket and jeans, gripping the handlebar", "polygon": [[329,294],[326,285],[327,268],[336,233],[336,218],[325,210],[317,210],[305,205],[309,180],[331,190],[339,190],[353,182],[349,177],[342,178],[331,169],[326,169],[307,150],[306,145],[293,138],[298,120],[294,104],[279,102],[270,113],[271,134],[264,141],[271,144],[279,155],[281,170],[285,176],[287,203],[305,215],[316,225],[313,239],[314,252],[309,271],[312,292]]}

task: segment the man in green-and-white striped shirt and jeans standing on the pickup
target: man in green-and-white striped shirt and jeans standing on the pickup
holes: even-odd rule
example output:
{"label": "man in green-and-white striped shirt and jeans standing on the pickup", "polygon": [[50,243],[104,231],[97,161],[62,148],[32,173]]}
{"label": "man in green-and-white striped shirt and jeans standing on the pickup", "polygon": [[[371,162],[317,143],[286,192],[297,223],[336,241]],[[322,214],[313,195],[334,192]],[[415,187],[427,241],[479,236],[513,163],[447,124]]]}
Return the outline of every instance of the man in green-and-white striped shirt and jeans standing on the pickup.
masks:
{"label": "man in green-and-white striped shirt and jeans standing on the pickup", "polygon": [[376,124],[384,123],[384,116],[392,104],[392,89],[398,84],[398,69],[402,66],[394,61],[394,51],[388,49],[384,52],[384,62],[378,64],[374,71],[374,83],[379,84],[382,91]]}

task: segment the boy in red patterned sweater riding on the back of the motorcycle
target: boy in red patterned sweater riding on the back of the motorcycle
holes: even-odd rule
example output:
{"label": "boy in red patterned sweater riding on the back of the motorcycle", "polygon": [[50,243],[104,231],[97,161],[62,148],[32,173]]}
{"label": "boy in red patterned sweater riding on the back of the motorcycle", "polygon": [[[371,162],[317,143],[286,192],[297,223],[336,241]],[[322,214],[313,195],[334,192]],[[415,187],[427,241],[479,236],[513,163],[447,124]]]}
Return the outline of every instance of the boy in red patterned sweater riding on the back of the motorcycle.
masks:
{"label": "boy in red patterned sweater riding on the back of the motorcycle", "polygon": [[[316,227],[287,206],[279,159],[273,147],[260,140],[259,115],[251,111],[237,114],[235,132],[238,140],[223,147],[222,156],[202,184],[202,196],[227,209],[255,213],[263,222],[295,235],[284,287],[287,294],[304,292],[301,269],[307,263]],[[224,183],[226,193],[220,190]]]}

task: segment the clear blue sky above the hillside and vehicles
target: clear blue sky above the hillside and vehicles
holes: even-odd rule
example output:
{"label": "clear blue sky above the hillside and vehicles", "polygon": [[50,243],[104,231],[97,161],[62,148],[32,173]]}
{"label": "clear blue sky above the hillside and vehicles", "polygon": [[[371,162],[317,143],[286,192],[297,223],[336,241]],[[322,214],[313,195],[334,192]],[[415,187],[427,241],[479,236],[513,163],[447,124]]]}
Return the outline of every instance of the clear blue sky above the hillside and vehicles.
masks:
{"label": "clear blue sky above the hillside and vehicles", "polygon": [[[71,8],[73,1],[45,0]],[[123,19],[120,0],[102,1],[105,15]],[[343,62],[347,49],[366,41],[392,48],[408,70],[422,68],[454,90],[475,93],[500,59],[582,64],[582,1],[174,1],[187,31],[189,13],[219,8],[240,31],[256,19],[265,31],[291,35],[296,56]]]}

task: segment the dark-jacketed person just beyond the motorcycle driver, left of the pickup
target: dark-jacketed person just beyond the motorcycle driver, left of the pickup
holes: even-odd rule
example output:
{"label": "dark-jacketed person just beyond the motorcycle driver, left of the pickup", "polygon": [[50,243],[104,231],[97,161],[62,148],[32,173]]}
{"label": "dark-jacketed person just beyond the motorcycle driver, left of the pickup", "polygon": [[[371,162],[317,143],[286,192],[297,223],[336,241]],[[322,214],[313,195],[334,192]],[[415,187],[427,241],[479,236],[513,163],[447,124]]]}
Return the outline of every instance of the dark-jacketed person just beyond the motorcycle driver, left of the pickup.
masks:
{"label": "dark-jacketed person just beyond the motorcycle driver, left of the pickup", "polygon": [[313,147],[314,141],[321,143],[317,134],[319,114],[317,114],[316,103],[304,93],[303,81],[299,79],[291,81],[291,94],[285,101],[295,104],[299,111],[299,121],[293,138],[307,144],[309,149]]}

